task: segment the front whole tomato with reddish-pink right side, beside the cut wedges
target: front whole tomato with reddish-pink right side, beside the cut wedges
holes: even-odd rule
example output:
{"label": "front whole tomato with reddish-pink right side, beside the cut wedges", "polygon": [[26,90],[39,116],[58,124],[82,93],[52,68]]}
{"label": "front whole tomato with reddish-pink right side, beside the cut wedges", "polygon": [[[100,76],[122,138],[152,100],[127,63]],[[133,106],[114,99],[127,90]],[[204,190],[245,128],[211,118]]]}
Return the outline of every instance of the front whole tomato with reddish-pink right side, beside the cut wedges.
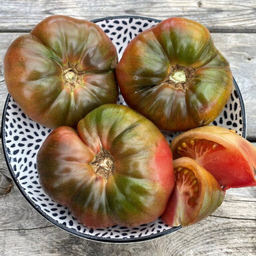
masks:
{"label": "front whole tomato with reddish-pink right side, beside the cut wedges", "polygon": [[92,228],[154,221],[175,182],[163,134],[116,104],[88,113],[77,132],[68,126],[53,130],[38,151],[37,169],[44,191]]}

